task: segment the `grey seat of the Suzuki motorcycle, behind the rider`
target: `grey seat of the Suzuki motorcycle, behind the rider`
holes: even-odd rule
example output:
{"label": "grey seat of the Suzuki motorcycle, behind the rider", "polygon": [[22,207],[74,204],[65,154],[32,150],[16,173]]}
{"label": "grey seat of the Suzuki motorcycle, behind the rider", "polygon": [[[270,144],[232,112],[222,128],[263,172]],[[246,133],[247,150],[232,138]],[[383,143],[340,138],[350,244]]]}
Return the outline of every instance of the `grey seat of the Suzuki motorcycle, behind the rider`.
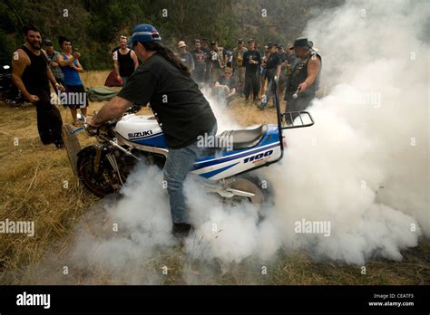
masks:
{"label": "grey seat of the Suzuki motorcycle, behind the rider", "polygon": [[256,129],[226,130],[217,138],[223,138],[224,141],[232,139],[233,150],[252,148],[259,144],[268,129],[268,125],[261,125]]}

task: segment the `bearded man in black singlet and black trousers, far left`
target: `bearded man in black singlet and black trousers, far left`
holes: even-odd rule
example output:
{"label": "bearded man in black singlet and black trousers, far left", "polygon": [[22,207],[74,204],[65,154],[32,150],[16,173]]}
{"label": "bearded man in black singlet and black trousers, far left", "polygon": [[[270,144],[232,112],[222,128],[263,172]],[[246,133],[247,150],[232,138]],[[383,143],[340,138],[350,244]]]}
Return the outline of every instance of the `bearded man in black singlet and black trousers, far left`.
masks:
{"label": "bearded man in black singlet and black trousers, far left", "polygon": [[14,52],[12,80],[24,97],[36,107],[37,129],[42,143],[54,143],[57,148],[63,148],[63,119],[55,105],[50,102],[49,81],[56,89],[64,88],[55,81],[48,66],[48,59],[41,51],[40,29],[34,24],[27,24],[23,33],[26,43]]}

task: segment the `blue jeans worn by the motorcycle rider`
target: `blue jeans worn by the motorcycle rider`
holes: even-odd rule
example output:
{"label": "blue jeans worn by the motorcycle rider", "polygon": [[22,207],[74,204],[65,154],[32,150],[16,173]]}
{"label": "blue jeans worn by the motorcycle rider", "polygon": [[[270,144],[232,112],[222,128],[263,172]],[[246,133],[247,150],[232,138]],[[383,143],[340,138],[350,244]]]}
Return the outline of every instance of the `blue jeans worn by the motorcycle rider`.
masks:
{"label": "blue jeans worn by the motorcycle rider", "polygon": [[[215,136],[217,124],[208,132],[208,135]],[[169,149],[169,156],[164,165],[164,180],[167,182],[167,191],[171,203],[171,219],[173,223],[188,223],[188,211],[183,196],[183,182],[191,170],[194,160],[202,157],[206,148],[199,148],[198,141],[185,148]]]}

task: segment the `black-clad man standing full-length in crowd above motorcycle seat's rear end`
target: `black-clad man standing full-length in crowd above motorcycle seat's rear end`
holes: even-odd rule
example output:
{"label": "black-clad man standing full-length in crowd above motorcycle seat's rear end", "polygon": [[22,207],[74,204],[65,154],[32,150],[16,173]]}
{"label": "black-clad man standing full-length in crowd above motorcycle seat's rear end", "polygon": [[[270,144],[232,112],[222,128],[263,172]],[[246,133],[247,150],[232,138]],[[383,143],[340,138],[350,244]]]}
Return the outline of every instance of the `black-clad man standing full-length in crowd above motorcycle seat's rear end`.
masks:
{"label": "black-clad man standing full-length in crowd above motorcycle seat's rear end", "polygon": [[249,92],[252,90],[253,100],[256,103],[259,100],[259,66],[261,64],[261,55],[255,49],[255,43],[252,39],[248,41],[248,51],[243,53],[243,66],[245,67],[245,100],[249,102]]}

